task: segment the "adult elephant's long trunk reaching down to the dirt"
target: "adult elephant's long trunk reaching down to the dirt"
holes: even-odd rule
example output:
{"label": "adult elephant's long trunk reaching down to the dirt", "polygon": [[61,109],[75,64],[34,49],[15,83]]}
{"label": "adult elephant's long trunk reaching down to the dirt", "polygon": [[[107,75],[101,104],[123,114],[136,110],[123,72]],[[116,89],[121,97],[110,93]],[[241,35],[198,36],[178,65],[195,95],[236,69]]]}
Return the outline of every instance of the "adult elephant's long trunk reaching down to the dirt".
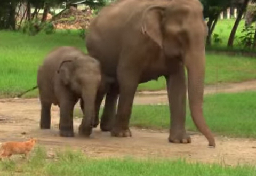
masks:
{"label": "adult elephant's long trunk reaching down to the dirt", "polygon": [[188,71],[188,98],[192,119],[197,129],[207,138],[209,146],[215,147],[215,139],[203,116],[205,52],[189,53],[185,65]]}

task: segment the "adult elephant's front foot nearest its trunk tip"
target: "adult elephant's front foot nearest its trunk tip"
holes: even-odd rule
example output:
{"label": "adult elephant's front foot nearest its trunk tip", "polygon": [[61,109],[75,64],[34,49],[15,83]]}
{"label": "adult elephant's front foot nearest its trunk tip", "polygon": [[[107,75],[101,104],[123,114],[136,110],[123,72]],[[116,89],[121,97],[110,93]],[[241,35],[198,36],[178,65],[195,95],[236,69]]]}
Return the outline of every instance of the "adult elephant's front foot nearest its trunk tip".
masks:
{"label": "adult elephant's front foot nearest its trunk tip", "polygon": [[170,130],[168,140],[171,143],[191,143],[191,138],[185,130]]}

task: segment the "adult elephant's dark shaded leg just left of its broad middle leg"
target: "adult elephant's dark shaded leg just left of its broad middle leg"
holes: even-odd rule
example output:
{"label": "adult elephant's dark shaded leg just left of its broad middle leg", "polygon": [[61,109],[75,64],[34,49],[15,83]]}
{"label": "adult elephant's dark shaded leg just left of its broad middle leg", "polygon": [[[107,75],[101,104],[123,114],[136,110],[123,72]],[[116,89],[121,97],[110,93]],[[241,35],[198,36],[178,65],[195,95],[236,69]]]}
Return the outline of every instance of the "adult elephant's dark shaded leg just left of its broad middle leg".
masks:
{"label": "adult elephant's dark shaded leg just left of its broad middle leg", "polygon": [[116,103],[118,99],[119,87],[116,83],[111,84],[106,95],[105,106],[100,120],[102,131],[111,131],[116,116]]}

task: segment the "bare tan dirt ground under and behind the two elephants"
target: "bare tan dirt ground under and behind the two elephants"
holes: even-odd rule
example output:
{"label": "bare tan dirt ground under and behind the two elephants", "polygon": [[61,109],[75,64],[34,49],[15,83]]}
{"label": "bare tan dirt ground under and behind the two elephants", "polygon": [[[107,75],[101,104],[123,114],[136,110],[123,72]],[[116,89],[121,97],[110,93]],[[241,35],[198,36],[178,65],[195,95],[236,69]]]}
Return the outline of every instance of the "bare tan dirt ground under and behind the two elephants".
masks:
{"label": "bare tan dirt ground under and behind the two elephants", "polygon": [[[205,94],[256,90],[256,80],[218,86],[206,86]],[[167,103],[166,91],[138,92],[134,104]],[[199,133],[192,133],[192,143],[177,145],[167,141],[168,131],[154,131],[131,128],[131,138],[110,137],[109,132],[94,129],[90,138],[78,137],[81,119],[74,119],[76,137],[64,138],[58,135],[59,109],[52,107],[52,128],[39,129],[40,103],[38,99],[0,99],[0,142],[35,137],[38,144],[49,148],[70,146],[81,149],[90,157],[167,157],[187,158],[189,161],[256,164],[256,140],[216,137],[217,147],[207,147],[207,140]],[[168,118],[168,117],[166,117]],[[26,133],[26,134],[25,134]]]}

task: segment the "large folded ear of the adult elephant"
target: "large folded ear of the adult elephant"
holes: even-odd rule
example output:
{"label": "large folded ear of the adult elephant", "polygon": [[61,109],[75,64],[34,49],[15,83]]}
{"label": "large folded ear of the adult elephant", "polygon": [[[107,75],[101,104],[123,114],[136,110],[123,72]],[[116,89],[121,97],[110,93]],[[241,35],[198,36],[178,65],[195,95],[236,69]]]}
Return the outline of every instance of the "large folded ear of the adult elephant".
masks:
{"label": "large folded ear of the adult elephant", "polygon": [[163,48],[163,34],[161,21],[165,7],[151,6],[142,15],[142,33],[148,35],[161,48]]}

